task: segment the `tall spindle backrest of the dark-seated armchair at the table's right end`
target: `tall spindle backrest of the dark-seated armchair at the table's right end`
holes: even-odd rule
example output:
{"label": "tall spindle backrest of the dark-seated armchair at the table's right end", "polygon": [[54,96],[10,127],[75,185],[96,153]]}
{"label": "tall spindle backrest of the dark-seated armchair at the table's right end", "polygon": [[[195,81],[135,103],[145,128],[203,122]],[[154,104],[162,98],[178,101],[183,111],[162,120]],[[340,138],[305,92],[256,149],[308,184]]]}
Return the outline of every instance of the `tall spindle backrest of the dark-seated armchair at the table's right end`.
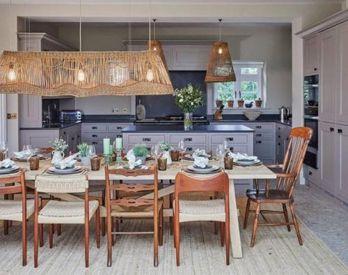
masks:
{"label": "tall spindle backrest of the dark-seated armchair at the table's right end", "polygon": [[289,192],[290,197],[294,191],[294,184],[299,178],[303,159],[312,135],[313,129],[309,127],[296,127],[290,132],[290,141],[283,162],[283,173],[292,173],[294,176],[292,178],[279,178],[277,185],[277,189]]}

